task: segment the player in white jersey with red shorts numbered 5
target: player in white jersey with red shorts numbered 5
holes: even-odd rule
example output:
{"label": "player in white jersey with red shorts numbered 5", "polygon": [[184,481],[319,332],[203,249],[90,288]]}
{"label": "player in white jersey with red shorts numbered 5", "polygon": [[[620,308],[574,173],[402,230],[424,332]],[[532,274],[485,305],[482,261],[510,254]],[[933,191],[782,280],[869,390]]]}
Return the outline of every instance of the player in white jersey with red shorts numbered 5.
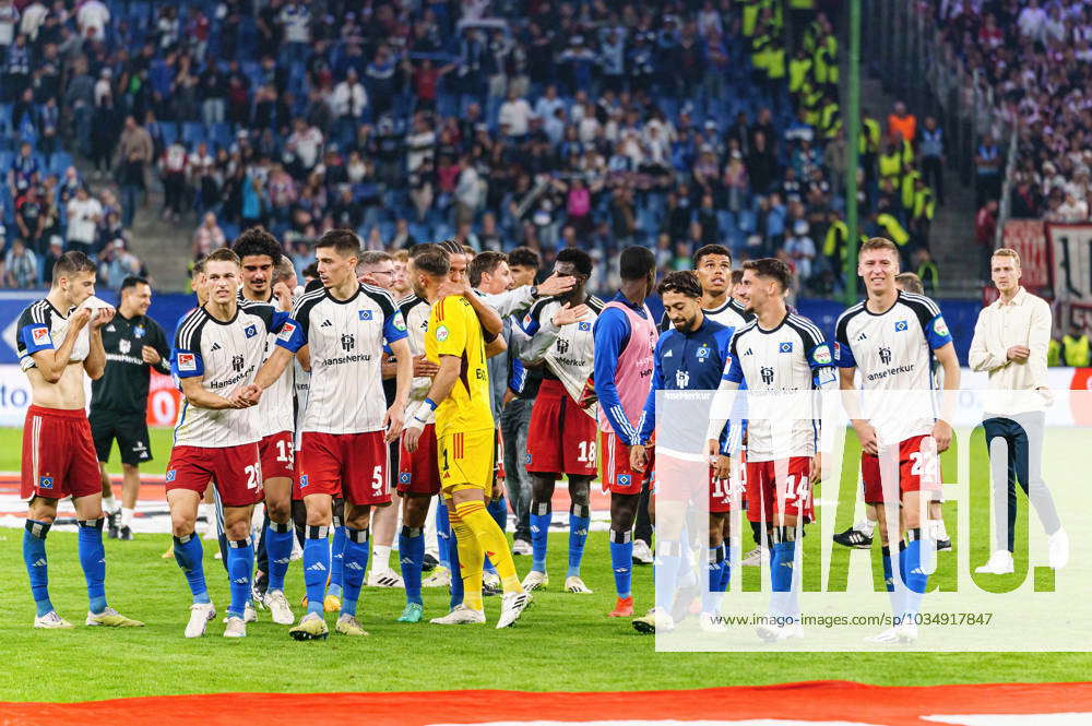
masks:
{"label": "player in white jersey with red shorts numbered 5", "polygon": [[[296,640],[325,639],[323,594],[330,571],[328,534],[333,498],[345,499],[346,541],[341,616],[335,630],[365,635],[356,619],[368,567],[368,525],[372,507],[389,507],[387,444],[402,430],[413,364],[406,326],[384,290],[356,277],[360,241],[347,229],[328,231],[314,246],[322,289],[305,293],[293,310],[302,336],[299,357],[310,368],[307,410],[299,450],[299,488],[307,505],[304,581],[307,614],[289,630]],[[397,359],[394,404],[382,385],[384,343]],[[260,395],[289,362],[290,347],[270,356],[248,395]],[[384,436],[385,432],[385,436]]]}

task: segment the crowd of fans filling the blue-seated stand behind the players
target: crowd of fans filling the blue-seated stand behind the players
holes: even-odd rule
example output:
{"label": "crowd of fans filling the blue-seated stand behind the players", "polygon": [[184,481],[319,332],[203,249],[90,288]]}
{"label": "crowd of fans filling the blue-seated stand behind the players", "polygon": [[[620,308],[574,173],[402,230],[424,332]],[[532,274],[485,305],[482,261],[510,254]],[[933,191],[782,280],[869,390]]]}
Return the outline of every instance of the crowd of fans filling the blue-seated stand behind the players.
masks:
{"label": "crowd of fans filling the blue-seated stand behind the players", "polygon": [[[931,264],[942,139],[901,107],[863,114],[851,234],[836,17],[808,4],[0,0],[3,109],[58,210],[27,235],[12,192],[4,282],[31,282],[28,252],[45,282],[55,242],[106,274],[139,266],[127,234],[159,185],[156,213],[197,219],[194,254],[262,224],[300,267],[331,227],[369,249],[455,237],[549,262],[581,246],[602,273],[626,245],[669,270],[716,241],[781,257],[816,295],[840,289],[858,235]],[[68,152],[93,168],[93,235],[70,222]]]}

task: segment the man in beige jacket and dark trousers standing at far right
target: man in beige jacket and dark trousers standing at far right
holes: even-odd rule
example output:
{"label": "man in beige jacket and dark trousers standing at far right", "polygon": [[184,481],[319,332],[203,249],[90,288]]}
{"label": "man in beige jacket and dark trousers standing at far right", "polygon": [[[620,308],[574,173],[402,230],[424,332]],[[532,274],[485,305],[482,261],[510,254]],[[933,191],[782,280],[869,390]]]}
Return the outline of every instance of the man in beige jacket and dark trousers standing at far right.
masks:
{"label": "man in beige jacket and dark trousers standing at far right", "polygon": [[1051,306],[1020,285],[1020,255],[1016,250],[996,250],[989,266],[1000,297],[978,314],[970,362],[974,370],[989,373],[983,426],[994,483],[995,545],[989,561],[976,572],[1008,574],[1013,570],[1016,480],[1047,533],[1049,566],[1060,569],[1069,560],[1069,538],[1041,473],[1046,408],[1051,404],[1046,381]]}

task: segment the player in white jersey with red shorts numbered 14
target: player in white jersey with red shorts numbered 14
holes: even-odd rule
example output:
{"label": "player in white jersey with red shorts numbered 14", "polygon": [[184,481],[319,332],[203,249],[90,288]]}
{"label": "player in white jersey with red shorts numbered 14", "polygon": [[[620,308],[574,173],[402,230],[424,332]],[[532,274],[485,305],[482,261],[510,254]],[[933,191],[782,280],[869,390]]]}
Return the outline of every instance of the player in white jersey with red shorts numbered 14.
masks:
{"label": "player in white jersey with red shorts numbered 14", "polygon": [[[772,523],[771,621],[759,626],[763,640],[799,633],[799,575],[796,543],[815,519],[811,487],[822,471],[815,390],[833,391],[836,376],[830,345],[807,318],[790,313],[785,293],[792,271],[781,260],[744,263],[740,297],[755,320],[732,340],[731,362],[720,391],[747,386],[747,516],[764,532]],[[714,410],[728,410],[723,401]],[[720,453],[723,418],[709,429],[710,453]]]}

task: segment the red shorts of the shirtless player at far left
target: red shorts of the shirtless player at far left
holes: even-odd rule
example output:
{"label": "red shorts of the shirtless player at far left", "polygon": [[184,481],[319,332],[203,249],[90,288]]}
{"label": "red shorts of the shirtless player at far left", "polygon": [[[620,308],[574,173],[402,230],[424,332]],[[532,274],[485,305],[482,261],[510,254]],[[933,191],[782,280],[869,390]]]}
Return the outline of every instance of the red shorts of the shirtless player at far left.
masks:
{"label": "red shorts of the shirtless player at far left", "polygon": [[103,491],[91,424],[83,408],[31,406],[23,424],[20,496],[90,497]]}

